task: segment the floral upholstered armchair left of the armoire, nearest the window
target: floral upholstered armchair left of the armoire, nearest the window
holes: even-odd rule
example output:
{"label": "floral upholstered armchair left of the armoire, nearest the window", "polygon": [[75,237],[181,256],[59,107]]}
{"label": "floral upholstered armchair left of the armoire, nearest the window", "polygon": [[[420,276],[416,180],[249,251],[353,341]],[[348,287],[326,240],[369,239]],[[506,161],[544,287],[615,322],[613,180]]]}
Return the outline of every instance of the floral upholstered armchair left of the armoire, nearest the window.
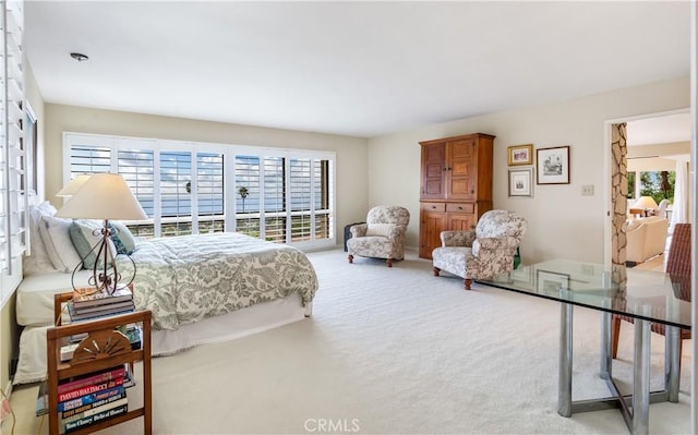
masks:
{"label": "floral upholstered armchair left of the armoire, nearest the window", "polygon": [[405,258],[405,233],[410,222],[407,208],[388,205],[369,210],[365,223],[351,226],[351,239],[347,241],[349,263],[353,256],[385,258],[393,267],[393,259]]}

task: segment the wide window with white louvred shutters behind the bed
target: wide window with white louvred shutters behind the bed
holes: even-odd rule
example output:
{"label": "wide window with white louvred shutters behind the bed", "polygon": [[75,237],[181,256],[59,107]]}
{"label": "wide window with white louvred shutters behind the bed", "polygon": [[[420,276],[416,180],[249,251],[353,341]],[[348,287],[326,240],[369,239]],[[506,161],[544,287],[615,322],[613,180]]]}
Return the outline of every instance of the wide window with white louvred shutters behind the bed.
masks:
{"label": "wide window with white louvred shutters behind the bed", "polygon": [[[123,176],[148,221],[140,237],[238,231],[276,243],[333,245],[334,153],[64,134],[64,181]],[[229,218],[231,216],[231,218]]]}

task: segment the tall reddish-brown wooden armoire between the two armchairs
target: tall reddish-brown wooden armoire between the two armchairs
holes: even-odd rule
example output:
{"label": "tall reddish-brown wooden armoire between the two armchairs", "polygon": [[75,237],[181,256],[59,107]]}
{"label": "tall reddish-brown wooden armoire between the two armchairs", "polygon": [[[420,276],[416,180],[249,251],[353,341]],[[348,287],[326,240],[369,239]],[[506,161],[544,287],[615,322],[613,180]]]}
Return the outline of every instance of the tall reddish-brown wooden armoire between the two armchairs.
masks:
{"label": "tall reddish-brown wooden armoire between the two armchairs", "polygon": [[442,231],[472,230],[492,209],[494,137],[474,133],[420,142],[420,257],[431,259]]}

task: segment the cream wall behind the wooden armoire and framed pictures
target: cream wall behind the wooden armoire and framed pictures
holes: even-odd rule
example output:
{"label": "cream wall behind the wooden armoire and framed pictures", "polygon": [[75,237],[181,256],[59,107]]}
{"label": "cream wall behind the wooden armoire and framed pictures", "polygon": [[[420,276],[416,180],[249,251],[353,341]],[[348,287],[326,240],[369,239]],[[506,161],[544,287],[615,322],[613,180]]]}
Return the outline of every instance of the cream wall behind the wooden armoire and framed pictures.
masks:
{"label": "cream wall behind the wooden armoire and framed pictures", "polygon": [[[399,204],[412,219],[407,243],[419,234],[420,147],[424,140],[489,133],[494,142],[494,207],[521,214],[528,233],[521,245],[525,263],[562,257],[603,262],[604,121],[689,107],[688,76],[565,102],[434,124],[369,140],[369,205]],[[534,185],[533,198],[508,197],[506,148],[569,145],[570,184]],[[593,196],[581,196],[593,185]]]}

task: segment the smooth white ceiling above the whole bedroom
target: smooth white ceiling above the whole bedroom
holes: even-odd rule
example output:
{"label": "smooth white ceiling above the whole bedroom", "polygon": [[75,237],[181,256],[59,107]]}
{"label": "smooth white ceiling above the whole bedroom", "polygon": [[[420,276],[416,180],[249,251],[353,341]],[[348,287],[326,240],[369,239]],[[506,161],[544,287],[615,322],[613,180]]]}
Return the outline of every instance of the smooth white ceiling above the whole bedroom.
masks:
{"label": "smooth white ceiling above the whole bedroom", "polygon": [[688,1],[28,1],[25,11],[47,102],[365,137],[674,78],[690,63]]}

